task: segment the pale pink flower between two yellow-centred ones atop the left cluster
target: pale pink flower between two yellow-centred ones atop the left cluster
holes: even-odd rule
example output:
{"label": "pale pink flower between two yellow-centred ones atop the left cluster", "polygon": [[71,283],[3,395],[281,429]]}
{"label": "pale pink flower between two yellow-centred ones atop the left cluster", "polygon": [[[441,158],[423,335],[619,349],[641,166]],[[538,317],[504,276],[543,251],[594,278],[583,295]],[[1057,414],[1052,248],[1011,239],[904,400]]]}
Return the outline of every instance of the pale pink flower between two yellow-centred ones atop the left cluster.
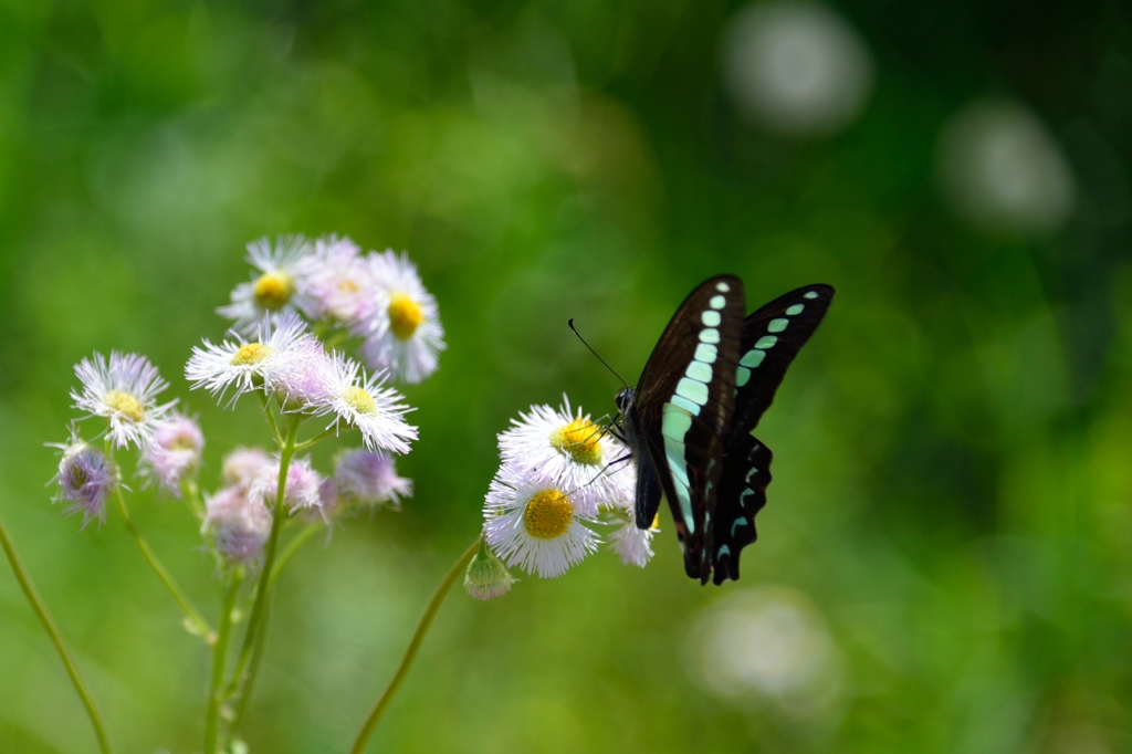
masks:
{"label": "pale pink flower between two yellow-centred ones atop the left cluster", "polygon": [[357,325],[372,307],[372,283],[361,249],[349,238],[324,235],[315,241],[307,265],[311,319],[334,319]]}

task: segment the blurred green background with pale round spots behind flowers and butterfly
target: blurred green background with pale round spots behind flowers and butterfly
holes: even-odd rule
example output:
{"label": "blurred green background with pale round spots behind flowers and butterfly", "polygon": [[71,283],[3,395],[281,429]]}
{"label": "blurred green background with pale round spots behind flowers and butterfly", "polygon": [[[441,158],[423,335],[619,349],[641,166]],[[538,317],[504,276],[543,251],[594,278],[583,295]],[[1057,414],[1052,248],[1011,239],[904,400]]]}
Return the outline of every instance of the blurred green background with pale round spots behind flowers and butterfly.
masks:
{"label": "blurred green background with pale round spots behind flowers and butterfly", "polygon": [[[417,495],[295,559],[245,729],[342,752],[475,535],[496,432],[564,391],[612,410],[568,317],[635,380],[709,275],[751,308],[826,282],[743,580],[685,577],[662,519],[643,571],[457,590],[372,751],[1132,751],[1130,161],[1116,0],[2,0],[0,515],[119,751],[198,751],[201,645],[121,521],[80,532],[44,488],[72,365],[149,355],[214,488],[267,439],[182,376],[245,243],[406,249],[449,344],[405,391]],[[214,617],[190,517],[132,506]],[[94,749],[0,569],[0,751]]]}

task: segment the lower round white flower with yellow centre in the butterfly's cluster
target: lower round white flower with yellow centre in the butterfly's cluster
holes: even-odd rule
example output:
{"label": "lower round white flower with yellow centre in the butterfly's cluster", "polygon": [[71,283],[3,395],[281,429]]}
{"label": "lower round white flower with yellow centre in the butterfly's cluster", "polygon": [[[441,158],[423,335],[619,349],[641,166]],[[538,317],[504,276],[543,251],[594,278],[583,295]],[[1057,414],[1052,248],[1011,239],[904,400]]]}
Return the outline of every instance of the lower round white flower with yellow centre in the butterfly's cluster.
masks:
{"label": "lower round white flower with yellow centre in the butterfly's cluster", "polygon": [[505,463],[483,506],[483,535],[509,566],[554,579],[598,549],[598,534],[583,525],[593,516],[574,506],[544,473]]}

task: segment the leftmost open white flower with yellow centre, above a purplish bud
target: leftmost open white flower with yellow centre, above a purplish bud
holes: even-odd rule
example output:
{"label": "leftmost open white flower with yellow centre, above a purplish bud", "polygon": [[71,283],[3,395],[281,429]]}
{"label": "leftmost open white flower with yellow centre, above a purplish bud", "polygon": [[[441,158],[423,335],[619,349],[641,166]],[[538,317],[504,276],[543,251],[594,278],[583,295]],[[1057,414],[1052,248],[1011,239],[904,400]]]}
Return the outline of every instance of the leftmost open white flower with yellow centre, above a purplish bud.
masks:
{"label": "leftmost open white flower with yellow centre, above a purplish bud", "polygon": [[137,353],[113,351],[109,362],[101,353],[95,353],[93,359],[78,362],[75,374],[83,383],[82,393],[71,391],[70,394],[75,408],[103,417],[118,447],[130,443],[145,447],[153,439],[157,422],[177,404],[177,401],[155,401],[169,383],[161,378],[148,359]]}

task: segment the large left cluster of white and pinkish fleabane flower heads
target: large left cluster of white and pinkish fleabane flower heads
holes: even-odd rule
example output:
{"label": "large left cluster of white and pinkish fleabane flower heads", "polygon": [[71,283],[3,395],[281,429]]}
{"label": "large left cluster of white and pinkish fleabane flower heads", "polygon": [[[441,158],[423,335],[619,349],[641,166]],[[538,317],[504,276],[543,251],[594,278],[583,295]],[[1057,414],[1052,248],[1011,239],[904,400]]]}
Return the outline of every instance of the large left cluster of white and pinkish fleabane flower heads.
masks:
{"label": "large left cluster of white and pinkish fleabane flower heads", "polygon": [[[392,251],[363,255],[350,239],[280,238],[248,246],[252,280],[235,286],[218,312],[233,328],[218,343],[192,349],[185,368],[194,388],[234,406],[259,399],[276,443],[274,452],[235,448],[223,461],[222,483],[203,499],[196,485],[205,436],[196,419],[161,403],[168,383],[143,355],[113,352],[84,359],[72,391],[75,408],[101,419],[101,445],[72,431],[55,499],[83,513],[84,525],[105,520],[106,500],[123,488],[114,451],[139,452],[138,474],[162,494],[183,499],[224,567],[260,565],[273,526],[295,520],[314,525],[343,511],[400,508],[412,481],[397,475],[393,454],[408,453],[417,428],[393,376],[420,382],[444,349],[436,301],[415,267]],[[367,367],[334,350],[357,336]],[[320,434],[301,440],[299,426]],[[334,473],[319,473],[302,449],[358,430],[363,447],[343,449]],[[104,447],[103,447],[104,445]],[[123,512],[125,512],[125,503]],[[285,523],[285,522],[284,522]]]}

